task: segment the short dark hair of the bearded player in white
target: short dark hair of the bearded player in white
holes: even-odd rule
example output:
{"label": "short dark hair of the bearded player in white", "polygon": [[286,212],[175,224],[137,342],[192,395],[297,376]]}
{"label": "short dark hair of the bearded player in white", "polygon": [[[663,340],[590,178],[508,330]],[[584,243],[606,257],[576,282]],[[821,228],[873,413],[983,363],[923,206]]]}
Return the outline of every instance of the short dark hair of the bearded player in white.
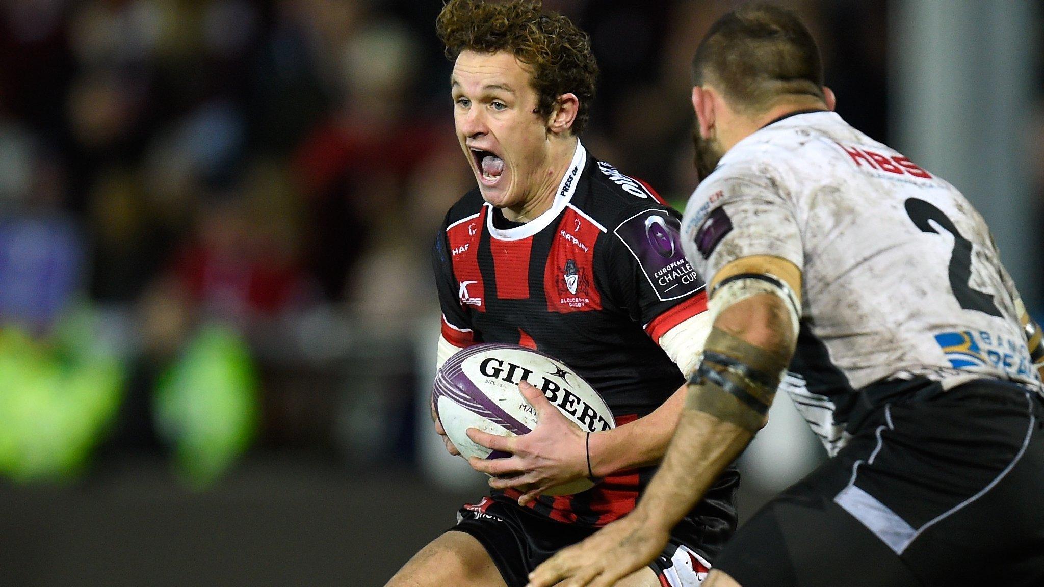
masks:
{"label": "short dark hair of the bearded player in white", "polygon": [[815,40],[798,15],[772,4],[749,4],[718,19],[692,57],[692,79],[719,86],[746,111],[786,96],[826,99]]}

